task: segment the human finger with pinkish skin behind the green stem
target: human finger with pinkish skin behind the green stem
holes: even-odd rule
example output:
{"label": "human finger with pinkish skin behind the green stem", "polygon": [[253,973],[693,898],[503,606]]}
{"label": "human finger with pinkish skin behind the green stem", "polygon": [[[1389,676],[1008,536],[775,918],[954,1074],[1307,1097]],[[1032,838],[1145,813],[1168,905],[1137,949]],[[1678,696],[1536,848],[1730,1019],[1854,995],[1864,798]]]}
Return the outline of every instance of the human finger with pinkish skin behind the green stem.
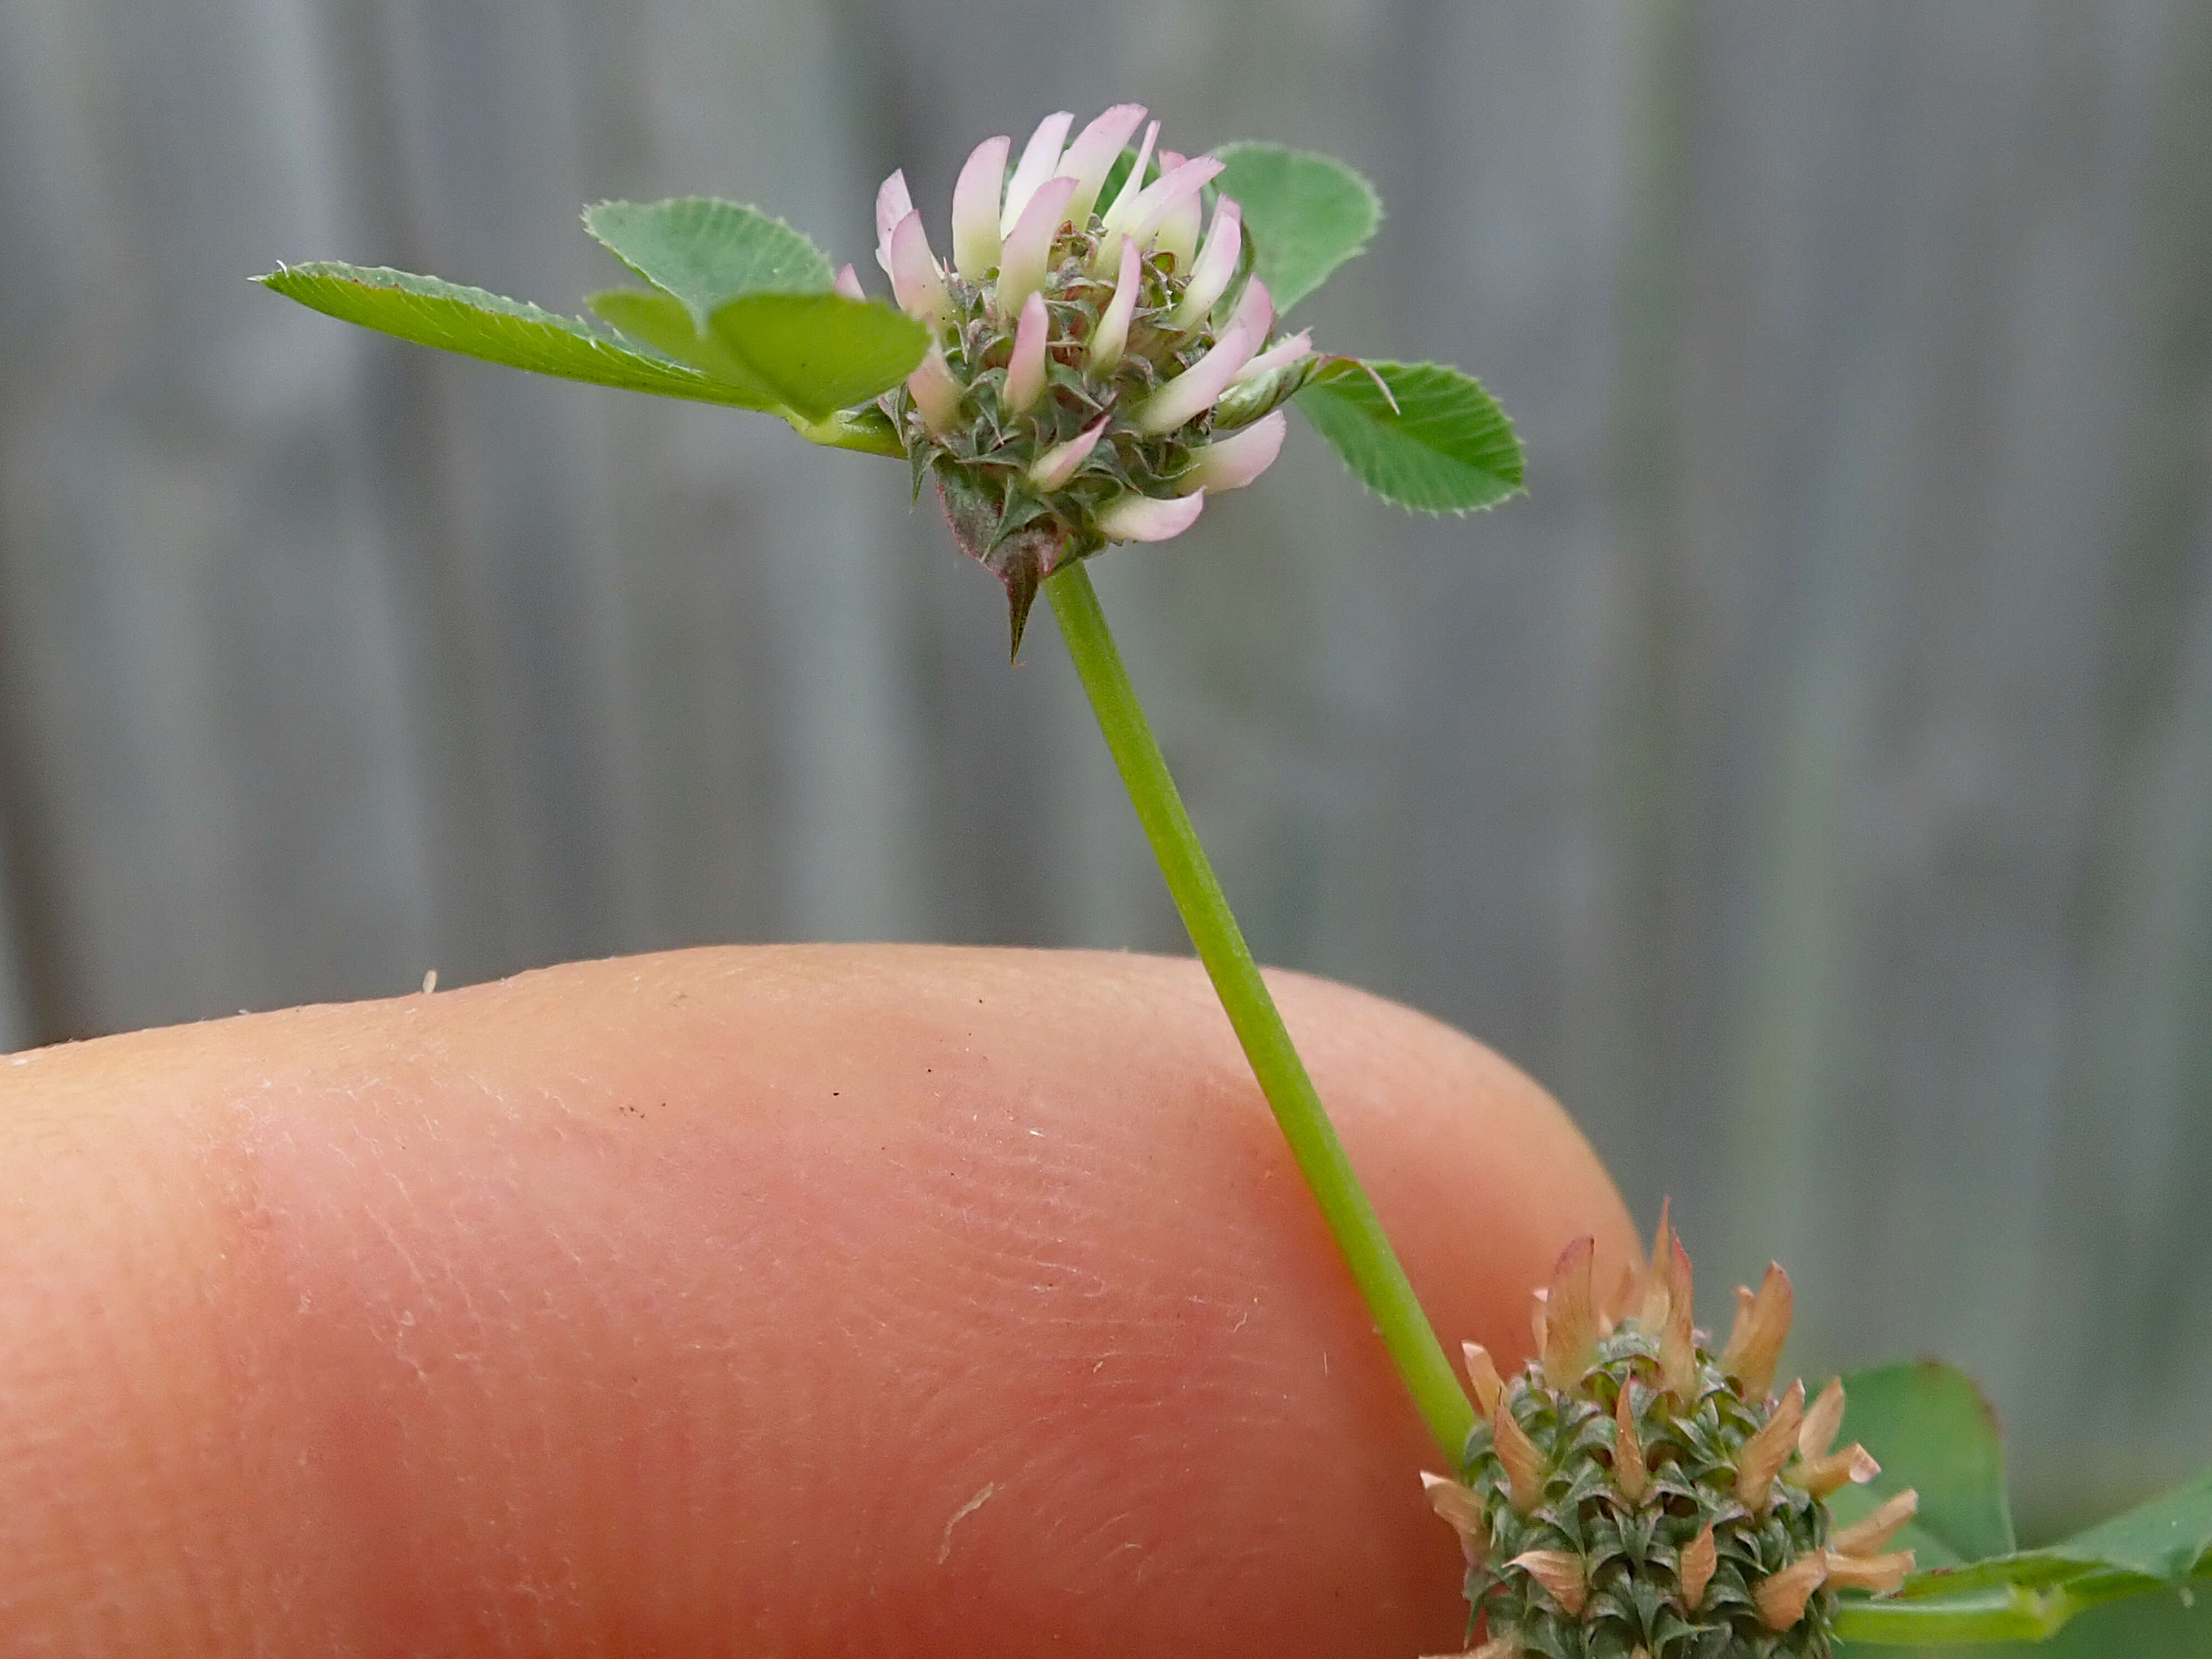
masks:
{"label": "human finger with pinkish skin behind the green stem", "polygon": [[[1564,1113],[1276,995],[1438,1329]],[[1442,1458],[1203,975],[686,951],[0,1060],[0,1652],[1422,1655]]]}

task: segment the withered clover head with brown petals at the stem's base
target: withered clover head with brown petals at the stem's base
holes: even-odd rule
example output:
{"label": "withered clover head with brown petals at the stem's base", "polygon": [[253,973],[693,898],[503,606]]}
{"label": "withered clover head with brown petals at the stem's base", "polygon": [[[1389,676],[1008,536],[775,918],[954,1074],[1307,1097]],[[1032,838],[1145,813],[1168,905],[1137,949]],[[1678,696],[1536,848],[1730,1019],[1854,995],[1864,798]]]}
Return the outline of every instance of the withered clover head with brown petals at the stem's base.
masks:
{"label": "withered clover head with brown petals at the stem's base", "polygon": [[1790,1276],[1739,1292],[1728,1345],[1690,1325],[1690,1256],[1666,1219],[1648,1263],[1597,1296],[1593,1241],[1535,1298],[1535,1358],[1502,1378],[1467,1347],[1484,1422],[1458,1480],[1422,1475],[1460,1537],[1480,1659],[1820,1659],[1838,1590],[1896,1590],[1900,1493],[1856,1526],[1827,1498],[1878,1473],[1834,1451],[1843,1385],[1774,1394]]}

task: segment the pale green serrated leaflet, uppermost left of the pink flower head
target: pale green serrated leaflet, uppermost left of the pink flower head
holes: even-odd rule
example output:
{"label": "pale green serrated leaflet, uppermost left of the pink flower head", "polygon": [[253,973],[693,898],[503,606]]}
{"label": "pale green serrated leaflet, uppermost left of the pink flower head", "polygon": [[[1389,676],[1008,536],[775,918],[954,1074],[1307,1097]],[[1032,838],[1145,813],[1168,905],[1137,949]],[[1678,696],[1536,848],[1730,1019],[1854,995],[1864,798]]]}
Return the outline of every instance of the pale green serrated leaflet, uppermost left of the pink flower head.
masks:
{"label": "pale green serrated leaflet, uppermost left of the pink flower head", "polygon": [[703,332],[741,294],[825,294],[830,259],[781,219],[714,197],[602,201],[584,230],[661,292],[675,294]]}

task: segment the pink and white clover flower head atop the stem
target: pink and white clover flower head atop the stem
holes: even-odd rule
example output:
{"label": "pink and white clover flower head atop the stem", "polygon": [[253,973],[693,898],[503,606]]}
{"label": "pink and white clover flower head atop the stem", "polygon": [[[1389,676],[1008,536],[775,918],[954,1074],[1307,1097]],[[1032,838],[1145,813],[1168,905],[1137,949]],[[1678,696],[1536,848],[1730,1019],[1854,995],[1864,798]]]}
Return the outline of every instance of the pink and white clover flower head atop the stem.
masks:
{"label": "pink and white clover flower head atop the stem", "polygon": [[[885,398],[960,544],[1006,584],[1013,641],[1037,584],[1108,542],[1166,542],[1283,447],[1281,405],[1318,358],[1274,338],[1214,157],[1159,150],[1117,104],[1068,139],[1044,117],[1020,159],[975,146],[940,263],[905,173],[876,197],[876,263],[929,354]],[[1144,128],[1139,137],[1139,128]],[[1130,155],[1135,144],[1135,155]],[[841,285],[856,283],[849,274]]]}

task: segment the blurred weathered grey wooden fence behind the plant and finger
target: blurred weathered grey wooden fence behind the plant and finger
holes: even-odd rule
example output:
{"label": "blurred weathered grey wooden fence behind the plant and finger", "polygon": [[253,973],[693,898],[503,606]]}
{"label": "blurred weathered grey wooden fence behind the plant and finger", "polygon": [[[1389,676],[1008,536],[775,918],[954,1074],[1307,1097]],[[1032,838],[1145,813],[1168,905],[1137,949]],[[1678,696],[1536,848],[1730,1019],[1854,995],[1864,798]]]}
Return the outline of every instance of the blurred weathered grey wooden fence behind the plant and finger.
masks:
{"label": "blurred weathered grey wooden fence behind the plant and finger", "polygon": [[2031,1517],[2212,1458],[2203,0],[0,0],[0,1048],[1181,949],[902,467],[246,281],[575,310],[672,192],[867,268],[891,166],[1119,97],[1367,170],[1301,321],[1531,456],[1413,522],[1294,422],[1099,568],[1259,953],[1542,1077],[1708,1292],[1785,1259],[1807,1371],[1964,1360]]}

